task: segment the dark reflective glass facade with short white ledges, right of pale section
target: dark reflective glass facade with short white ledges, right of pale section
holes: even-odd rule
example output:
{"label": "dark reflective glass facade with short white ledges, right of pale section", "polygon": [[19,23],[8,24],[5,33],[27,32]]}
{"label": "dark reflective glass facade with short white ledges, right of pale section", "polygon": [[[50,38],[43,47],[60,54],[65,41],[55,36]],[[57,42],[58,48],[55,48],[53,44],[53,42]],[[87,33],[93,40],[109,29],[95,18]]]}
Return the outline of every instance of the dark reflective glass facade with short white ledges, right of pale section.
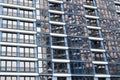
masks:
{"label": "dark reflective glass facade with short white ledges, right of pale section", "polygon": [[40,80],[120,80],[120,0],[37,0]]}

